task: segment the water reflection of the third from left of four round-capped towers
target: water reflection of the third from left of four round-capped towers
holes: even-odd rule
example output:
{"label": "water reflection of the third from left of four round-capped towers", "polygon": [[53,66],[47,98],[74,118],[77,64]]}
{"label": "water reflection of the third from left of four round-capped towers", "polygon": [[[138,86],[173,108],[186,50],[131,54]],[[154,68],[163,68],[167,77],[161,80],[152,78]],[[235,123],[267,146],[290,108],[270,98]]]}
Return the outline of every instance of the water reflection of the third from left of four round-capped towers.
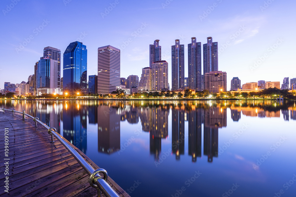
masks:
{"label": "water reflection of the third from left of four round-capped towers", "polygon": [[192,161],[202,154],[202,109],[197,108],[188,114],[188,155]]}

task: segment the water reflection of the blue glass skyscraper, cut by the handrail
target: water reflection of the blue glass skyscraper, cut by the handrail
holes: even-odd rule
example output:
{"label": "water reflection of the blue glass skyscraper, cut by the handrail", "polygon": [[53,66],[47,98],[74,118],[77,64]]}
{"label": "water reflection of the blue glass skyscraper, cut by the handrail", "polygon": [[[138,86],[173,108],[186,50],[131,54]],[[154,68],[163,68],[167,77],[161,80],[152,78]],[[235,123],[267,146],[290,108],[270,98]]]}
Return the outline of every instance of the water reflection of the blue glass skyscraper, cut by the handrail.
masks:
{"label": "water reflection of the blue glass skyscraper, cut by the handrail", "polygon": [[68,102],[63,110],[63,137],[83,153],[87,149],[87,110],[79,103]]}

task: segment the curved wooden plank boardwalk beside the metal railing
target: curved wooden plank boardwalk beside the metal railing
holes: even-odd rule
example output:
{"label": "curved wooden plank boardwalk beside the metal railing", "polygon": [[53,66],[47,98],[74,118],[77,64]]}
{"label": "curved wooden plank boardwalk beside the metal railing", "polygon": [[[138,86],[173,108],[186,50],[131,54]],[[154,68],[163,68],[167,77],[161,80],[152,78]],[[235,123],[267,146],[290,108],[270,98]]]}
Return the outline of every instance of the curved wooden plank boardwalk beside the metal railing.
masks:
{"label": "curved wooden plank boardwalk beside the metal railing", "polygon": [[[4,128],[9,131],[8,157],[4,154]],[[0,196],[97,196],[97,190],[88,182],[89,176],[70,152],[56,138],[50,143],[46,128],[35,127],[31,118],[22,120],[21,115],[1,110],[0,133]],[[99,168],[75,149],[94,169]],[[6,161],[9,175],[3,173]],[[9,193],[4,192],[6,176],[9,176]],[[129,196],[110,177],[107,183],[120,196]]]}

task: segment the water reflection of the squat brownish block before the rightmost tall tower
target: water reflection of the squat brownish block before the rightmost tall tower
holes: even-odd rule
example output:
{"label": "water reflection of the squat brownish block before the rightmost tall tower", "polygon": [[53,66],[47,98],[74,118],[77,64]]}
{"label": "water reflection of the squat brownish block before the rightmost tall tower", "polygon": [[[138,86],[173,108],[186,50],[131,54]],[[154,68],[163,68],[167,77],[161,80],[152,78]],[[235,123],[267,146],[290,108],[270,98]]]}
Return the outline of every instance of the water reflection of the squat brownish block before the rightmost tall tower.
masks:
{"label": "water reflection of the squat brownish block before the rightmost tall tower", "polygon": [[210,128],[227,126],[226,108],[210,107],[204,110],[204,125]]}

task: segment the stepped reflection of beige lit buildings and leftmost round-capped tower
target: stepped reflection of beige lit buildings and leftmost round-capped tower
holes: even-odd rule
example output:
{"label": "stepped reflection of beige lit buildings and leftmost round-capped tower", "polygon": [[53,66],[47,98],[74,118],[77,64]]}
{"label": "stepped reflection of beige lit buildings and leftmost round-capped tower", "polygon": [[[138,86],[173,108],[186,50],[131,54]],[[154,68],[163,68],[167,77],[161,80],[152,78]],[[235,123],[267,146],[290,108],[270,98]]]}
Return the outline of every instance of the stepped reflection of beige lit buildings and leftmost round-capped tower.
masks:
{"label": "stepped reflection of beige lit buildings and leftmost round-capped tower", "polygon": [[158,160],[161,152],[161,139],[168,136],[169,109],[159,107],[138,108],[142,130],[149,132],[150,154]]}

